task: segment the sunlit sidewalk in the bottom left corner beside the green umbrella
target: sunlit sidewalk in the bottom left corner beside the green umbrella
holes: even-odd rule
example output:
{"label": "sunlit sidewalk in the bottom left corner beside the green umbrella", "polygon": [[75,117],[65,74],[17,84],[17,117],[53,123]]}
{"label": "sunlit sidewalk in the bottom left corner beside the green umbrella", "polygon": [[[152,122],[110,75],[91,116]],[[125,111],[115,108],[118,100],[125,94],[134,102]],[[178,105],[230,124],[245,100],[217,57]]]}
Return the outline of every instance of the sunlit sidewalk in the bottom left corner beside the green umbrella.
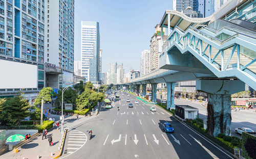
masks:
{"label": "sunlit sidewalk in the bottom left corner beside the green umbrella", "polygon": [[[53,139],[53,146],[49,145],[48,137],[52,135]],[[18,149],[17,153],[14,153],[13,151],[7,151],[6,153],[2,154],[0,158],[17,158],[22,159],[25,158],[37,158],[39,155],[40,158],[53,158],[54,156],[58,155],[59,150],[59,143],[61,140],[61,132],[57,129],[50,129],[47,133],[47,138],[42,140],[42,134],[40,134],[38,137],[32,139],[30,142],[28,142],[26,145],[23,145]],[[51,153],[53,153],[53,156],[51,156]]]}

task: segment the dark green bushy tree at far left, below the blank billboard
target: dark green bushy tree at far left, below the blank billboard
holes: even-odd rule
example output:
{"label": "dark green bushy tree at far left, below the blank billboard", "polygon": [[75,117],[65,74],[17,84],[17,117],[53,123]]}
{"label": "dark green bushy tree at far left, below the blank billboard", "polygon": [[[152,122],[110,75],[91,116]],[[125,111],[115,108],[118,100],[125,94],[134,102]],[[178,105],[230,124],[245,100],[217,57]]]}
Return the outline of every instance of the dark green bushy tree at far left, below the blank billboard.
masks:
{"label": "dark green bushy tree at far left, below the blank billboard", "polygon": [[[3,102],[3,100],[2,100]],[[30,112],[29,102],[24,97],[24,93],[14,98],[8,99],[3,104],[3,121],[8,126],[15,126],[20,123],[22,119],[28,117]]]}

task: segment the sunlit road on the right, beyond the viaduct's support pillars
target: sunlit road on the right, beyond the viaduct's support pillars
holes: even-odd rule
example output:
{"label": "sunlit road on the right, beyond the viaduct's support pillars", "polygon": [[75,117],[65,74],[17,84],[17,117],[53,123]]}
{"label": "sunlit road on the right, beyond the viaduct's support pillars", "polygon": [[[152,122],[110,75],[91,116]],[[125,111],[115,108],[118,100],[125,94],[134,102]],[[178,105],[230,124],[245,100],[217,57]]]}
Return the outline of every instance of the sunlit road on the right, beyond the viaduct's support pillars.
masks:
{"label": "sunlit road on the right, beyond the viaduct's support pillars", "polygon": [[[158,100],[160,100],[160,96],[157,96]],[[190,105],[192,107],[199,109],[199,118],[207,120],[207,107],[204,107],[199,102],[195,101],[188,101],[188,100],[181,100],[181,99],[175,99],[174,103],[179,105]],[[253,110],[241,110],[241,111],[231,111],[231,136],[236,136],[241,138],[240,134],[236,134],[235,129],[239,127],[248,127],[252,130],[256,131],[256,112]]]}

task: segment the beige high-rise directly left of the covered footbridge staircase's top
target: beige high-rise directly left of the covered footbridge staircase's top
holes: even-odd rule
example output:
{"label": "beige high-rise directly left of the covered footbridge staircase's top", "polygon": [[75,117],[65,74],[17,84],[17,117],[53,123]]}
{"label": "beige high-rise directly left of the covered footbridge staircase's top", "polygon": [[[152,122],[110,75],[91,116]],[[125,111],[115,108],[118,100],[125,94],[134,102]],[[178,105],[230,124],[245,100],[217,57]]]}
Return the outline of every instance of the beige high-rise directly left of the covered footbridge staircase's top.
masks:
{"label": "beige high-rise directly left of the covered footbridge staircase's top", "polygon": [[[163,33],[163,43],[166,41],[167,35]],[[150,72],[156,70],[159,68],[159,56],[160,51],[159,47],[162,47],[161,45],[161,28],[159,24],[155,26],[155,34],[152,36],[150,40]]]}

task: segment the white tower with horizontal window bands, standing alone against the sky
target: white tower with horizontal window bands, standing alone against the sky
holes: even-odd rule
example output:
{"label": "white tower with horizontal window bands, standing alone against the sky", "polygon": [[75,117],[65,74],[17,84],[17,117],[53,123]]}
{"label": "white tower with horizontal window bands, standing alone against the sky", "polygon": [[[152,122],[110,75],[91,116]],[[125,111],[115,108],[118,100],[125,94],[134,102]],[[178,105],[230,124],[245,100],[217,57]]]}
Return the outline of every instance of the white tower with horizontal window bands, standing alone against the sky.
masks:
{"label": "white tower with horizontal window bands, standing alone against the sky", "polygon": [[81,21],[81,75],[94,84],[99,82],[99,52],[99,22]]}

